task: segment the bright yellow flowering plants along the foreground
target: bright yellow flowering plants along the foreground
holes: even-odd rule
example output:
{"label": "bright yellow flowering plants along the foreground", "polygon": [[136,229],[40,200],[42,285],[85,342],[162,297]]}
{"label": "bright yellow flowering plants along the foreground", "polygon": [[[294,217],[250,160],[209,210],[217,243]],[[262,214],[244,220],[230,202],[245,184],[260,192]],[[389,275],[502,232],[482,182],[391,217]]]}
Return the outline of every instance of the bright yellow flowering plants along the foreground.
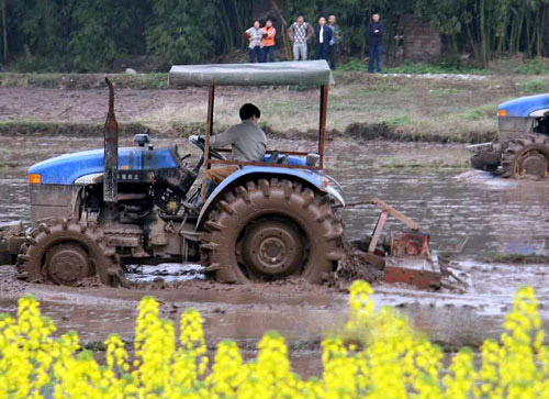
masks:
{"label": "bright yellow flowering plants along the foreground", "polygon": [[[80,351],[78,335],[52,337],[56,328],[32,297],[16,318],[0,320],[1,398],[547,398],[549,347],[531,288],[520,288],[501,342],[481,353],[462,350],[449,366],[440,348],[392,308],[376,310],[372,289],[350,288],[349,319],[340,336],[323,343],[324,372],[292,373],[284,339],[268,332],[257,358],[244,362],[233,341],[219,344],[209,365],[199,312],[176,326],[159,318],[158,302],[138,307],[134,353],[117,335],[107,342],[107,365]],[[474,361],[474,362],[473,362]]]}

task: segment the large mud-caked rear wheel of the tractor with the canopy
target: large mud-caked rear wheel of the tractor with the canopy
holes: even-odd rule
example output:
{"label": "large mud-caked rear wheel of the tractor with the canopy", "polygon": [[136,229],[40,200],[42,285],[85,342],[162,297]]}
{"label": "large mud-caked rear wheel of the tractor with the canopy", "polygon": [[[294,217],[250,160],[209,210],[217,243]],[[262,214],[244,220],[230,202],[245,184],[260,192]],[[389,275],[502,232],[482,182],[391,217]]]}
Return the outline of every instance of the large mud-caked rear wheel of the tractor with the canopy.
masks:
{"label": "large mud-caked rear wheel of the tractor with the canopy", "polygon": [[321,284],[343,258],[343,224],[328,196],[288,179],[248,181],[217,200],[202,263],[219,281],[301,276]]}

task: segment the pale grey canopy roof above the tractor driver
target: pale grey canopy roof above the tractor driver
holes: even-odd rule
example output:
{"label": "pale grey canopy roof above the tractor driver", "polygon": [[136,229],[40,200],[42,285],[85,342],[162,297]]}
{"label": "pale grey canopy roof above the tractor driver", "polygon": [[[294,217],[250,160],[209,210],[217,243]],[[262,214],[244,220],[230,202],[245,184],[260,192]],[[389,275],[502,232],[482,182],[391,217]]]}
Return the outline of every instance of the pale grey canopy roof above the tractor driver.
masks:
{"label": "pale grey canopy roof above the tractor driver", "polygon": [[173,65],[170,86],[325,86],[334,84],[322,60],[262,64]]}

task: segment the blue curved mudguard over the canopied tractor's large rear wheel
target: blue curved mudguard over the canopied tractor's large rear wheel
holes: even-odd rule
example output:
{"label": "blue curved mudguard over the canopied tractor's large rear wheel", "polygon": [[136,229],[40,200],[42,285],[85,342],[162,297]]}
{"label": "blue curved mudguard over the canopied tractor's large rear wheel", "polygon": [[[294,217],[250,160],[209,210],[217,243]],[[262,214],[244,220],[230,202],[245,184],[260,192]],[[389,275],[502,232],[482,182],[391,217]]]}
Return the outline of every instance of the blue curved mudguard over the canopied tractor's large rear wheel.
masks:
{"label": "blue curved mudguard over the canopied tractor's large rear wheel", "polygon": [[202,225],[205,222],[204,217],[208,214],[210,207],[215,202],[217,197],[223,195],[225,191],[231,190],[233,187],[239,186],[244,181],[270,177],[291,177],[293,180],[300,180],[305,185],[315,187],[316,189],[326,192],[341,206],[345,206],[345,199],[340,190],[336,188],[335,185],[330,182],[333,180],[324,174],[307,169],[289,169],[276,166],[246,166],[223,180],[208,198],[204,207],[202,207],[199,220],[197,221],[197,230],[199,231],[202,229]]}

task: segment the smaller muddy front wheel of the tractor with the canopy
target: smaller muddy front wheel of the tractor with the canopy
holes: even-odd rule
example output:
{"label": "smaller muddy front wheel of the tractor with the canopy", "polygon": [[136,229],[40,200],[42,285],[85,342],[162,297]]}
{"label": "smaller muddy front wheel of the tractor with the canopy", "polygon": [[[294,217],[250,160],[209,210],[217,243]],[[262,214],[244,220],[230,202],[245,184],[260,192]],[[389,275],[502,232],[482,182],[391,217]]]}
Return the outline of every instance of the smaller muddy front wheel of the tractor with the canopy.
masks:
{"label": "smaller muddy front wheel of the tractor with the canopy", "polygon": [[123,280],[115,250],[100,229],[77,221],[42,223],[26,237],[18,257],[18,277],[31,282],[77,286],[99,276],[104,285]]}

